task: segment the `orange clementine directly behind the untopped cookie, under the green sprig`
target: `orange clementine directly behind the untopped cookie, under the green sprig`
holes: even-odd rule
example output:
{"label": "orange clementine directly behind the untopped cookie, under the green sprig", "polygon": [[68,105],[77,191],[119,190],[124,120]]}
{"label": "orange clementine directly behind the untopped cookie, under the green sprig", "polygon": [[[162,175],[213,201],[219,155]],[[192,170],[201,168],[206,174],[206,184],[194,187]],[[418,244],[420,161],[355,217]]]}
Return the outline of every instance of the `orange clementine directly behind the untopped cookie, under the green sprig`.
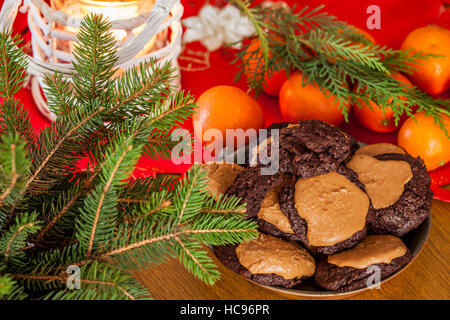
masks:
{"label": "orange clementine directly behind the untopped cookie, under the green sprig", "polygon": [[336,97],[326,97],[316,83],[303,86],[302,81],[302,73],[295,72],[281,87],[279,101],[284,120],[297,122],[317,119],[333,125],[341,124],[344,115],[338,108]]}

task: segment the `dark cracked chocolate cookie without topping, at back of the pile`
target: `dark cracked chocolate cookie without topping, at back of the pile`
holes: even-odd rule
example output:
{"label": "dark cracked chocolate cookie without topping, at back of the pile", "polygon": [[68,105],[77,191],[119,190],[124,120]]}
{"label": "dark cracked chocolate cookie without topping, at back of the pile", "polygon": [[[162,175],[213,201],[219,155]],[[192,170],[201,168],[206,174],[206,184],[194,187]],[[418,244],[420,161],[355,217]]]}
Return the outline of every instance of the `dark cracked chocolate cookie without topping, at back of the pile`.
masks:
{"label": "dark cracked chocolate cookie without topping, at back of the pile", "polygon": [[[273,146],[268,145],[268,152]],[[300,121],[280,130],[279,170],[307,178],[336,170],[357,149],[341,129],[319,120]]]}

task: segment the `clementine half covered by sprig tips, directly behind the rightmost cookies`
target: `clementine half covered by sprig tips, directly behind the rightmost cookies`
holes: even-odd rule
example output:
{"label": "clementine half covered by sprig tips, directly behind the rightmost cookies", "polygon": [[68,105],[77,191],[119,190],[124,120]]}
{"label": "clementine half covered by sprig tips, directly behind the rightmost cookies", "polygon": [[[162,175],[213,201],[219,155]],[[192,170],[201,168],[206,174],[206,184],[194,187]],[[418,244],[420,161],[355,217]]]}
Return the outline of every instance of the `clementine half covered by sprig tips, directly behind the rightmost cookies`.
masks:
{"label": "clementine half covered by sprig tips, directly behind the rightmost cookies", "polygon": [[[412,85],[408,78],[400,73],[395,73],[392,77],[402,84]],[[390,107],[386,106],[383,113],[383,109],[373,101],[370,101],[369,105],[361,99],[358,99],[358,102],[359,105],[353,107],[353,114],[367,129],[375,132],[393,132],[398,129],[395,125],[394,111]]]}

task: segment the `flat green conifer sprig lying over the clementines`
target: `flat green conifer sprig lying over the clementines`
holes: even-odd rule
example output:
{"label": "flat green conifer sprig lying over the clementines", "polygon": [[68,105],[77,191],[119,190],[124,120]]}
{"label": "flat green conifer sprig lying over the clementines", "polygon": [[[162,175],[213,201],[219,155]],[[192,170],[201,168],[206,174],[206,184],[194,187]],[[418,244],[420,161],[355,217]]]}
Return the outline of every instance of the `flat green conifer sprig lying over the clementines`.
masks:
{"label": "flat green conifer sprig lying over the clementines", "polygon": [[323,6],[298,10],[296,6],[252,6],[249,0],[229,2],[252,22],[256,32],[251,38],[260,41],[260,49],[253,51],[251,41],[243,41],[243,50],[234,61],[240,66],[237,79],[245,72],[256,94],[274,72],[299,70],[305,76],[304,85],[315,82],[326,96],[335,97],[346,119],[351,104],[374,101],[383,111],[391,108],[397,123],[404,114],[413,116],[417,106],[417,111],[431,115],[449,136],[442,115],[450,116],[450,101],[434,99],[390,76],[410,74],[430,55],[373,45],[351,25],[324,12]]}

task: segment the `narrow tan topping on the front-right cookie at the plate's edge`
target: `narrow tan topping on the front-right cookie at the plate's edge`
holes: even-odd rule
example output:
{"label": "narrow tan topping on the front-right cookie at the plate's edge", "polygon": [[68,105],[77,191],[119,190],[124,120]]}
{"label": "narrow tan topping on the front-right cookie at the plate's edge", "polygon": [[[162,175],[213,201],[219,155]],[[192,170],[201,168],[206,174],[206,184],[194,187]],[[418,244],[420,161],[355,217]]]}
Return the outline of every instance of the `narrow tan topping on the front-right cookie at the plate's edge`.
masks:
{"label": "narrow tan topping on the front-right cookie at the plate's edge", "polygon": [[400,238],[390,235],[367,236],[355,248],[328,256],[328,263],[365,269],[373,264],[389,264],[405,253],[406,246]]}

